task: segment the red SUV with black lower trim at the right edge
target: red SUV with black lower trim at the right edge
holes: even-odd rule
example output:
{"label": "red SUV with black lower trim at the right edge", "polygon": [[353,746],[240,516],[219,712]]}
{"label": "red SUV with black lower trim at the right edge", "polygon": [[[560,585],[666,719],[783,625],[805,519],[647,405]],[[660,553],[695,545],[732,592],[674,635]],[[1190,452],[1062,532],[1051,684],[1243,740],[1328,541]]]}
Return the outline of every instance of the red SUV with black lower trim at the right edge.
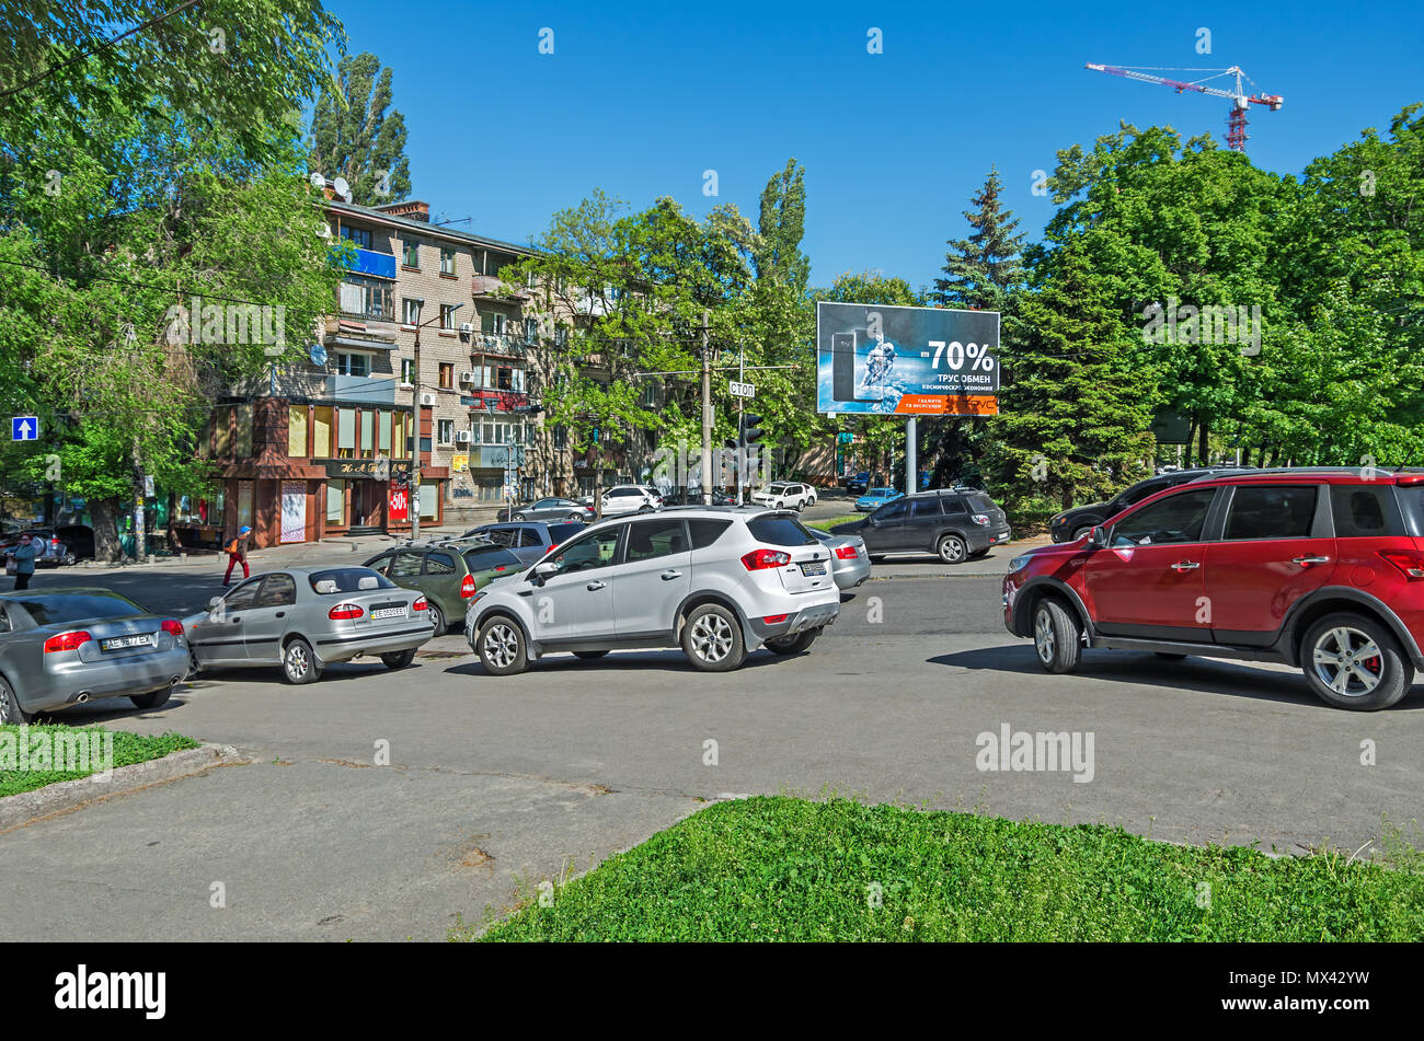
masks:
{"label": "red SUV with black lower trim at the right edge", "polygon": [[1337,708],[1387,708],[1424,668],[1424,472],[1179,485],[1010,560],[1004,624],[1049,673],[1084,647],[1284,661]]}

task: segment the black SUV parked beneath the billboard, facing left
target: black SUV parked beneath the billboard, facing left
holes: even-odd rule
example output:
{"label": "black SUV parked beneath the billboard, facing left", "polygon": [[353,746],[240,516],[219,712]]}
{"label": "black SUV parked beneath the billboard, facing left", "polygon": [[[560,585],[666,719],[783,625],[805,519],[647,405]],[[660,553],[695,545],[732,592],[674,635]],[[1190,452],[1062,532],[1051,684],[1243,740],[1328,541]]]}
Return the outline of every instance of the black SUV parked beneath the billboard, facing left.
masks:
{"label": "black SUV parked beneath the billboard, facing left", "polygon": [[1004,511],[974,488],[893,499],[864,520],[836,525],[830,533],[859,535],[871,560],[886,553],[934,553],[944,563],[973,560],[1012,538]]}

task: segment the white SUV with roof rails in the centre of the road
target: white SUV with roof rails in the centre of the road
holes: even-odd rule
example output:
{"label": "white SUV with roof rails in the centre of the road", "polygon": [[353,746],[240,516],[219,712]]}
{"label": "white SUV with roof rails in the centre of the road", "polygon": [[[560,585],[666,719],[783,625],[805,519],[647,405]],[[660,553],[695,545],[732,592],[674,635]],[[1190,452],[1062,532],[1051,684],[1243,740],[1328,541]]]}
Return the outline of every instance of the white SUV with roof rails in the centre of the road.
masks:
{"label": "white SUV with roof rails in the centre of the road", "polygon": [[602,520],[470,597],[464,636],[493,676],[558,651],[634,647],[682,647],[722,673],[762,646],[810,647],[840,614],[830,563],[786,511],[679,506]]}

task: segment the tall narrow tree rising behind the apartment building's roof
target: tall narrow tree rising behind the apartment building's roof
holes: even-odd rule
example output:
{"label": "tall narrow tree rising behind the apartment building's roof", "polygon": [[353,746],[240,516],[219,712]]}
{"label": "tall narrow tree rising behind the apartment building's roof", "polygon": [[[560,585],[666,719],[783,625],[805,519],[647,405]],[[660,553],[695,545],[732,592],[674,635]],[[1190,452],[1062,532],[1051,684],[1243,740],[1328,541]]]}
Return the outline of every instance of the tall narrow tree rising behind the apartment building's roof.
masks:
{"label": "tall narrow tree rising behind the apartment building's roof", "polygon": [[323,90],[312,112],[310,164],[328,178],[342,176],[352,202],[375,206],[410,195],[406,117],[392,105],[392,71],[370,51],[342,58],[336,84]]}

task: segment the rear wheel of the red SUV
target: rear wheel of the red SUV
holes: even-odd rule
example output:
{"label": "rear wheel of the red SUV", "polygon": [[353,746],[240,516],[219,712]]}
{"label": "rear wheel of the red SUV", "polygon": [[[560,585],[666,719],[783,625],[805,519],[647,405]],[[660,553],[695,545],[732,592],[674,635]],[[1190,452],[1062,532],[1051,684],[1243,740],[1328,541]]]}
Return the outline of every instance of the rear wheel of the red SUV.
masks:
{"label": "rear wheel of the red SUV", "polygon": [[[1367,656],[1371,646],[1376,654]],[[1357,712],[1388,708],[1414,681],[1414,666],[1394,634],[1364,614],[1341,612],[1320,619],[1300,641],[1300,660],[1316,697]]]}

